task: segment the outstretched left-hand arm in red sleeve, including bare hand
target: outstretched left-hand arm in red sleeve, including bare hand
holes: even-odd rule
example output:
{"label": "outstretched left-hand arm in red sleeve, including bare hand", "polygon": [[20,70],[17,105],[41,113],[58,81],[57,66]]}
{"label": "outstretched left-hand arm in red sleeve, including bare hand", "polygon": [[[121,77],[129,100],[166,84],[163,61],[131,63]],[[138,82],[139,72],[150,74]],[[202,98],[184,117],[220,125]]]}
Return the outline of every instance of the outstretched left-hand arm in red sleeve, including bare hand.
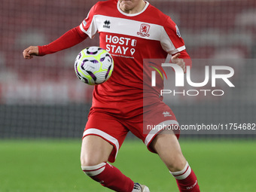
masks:
{"label": "outstretched left-hand arm in red sleeve, including bare hand", "polygon": [[44,56],[50,53],[56,53],[59,50],[64,50],[73,47],[84,41],[88,36],[81,32],[80,26],[70,29],[60,38],[44,46],[30,46],[23,50],[23,57],[25,59],[32,59],[33,56]]}

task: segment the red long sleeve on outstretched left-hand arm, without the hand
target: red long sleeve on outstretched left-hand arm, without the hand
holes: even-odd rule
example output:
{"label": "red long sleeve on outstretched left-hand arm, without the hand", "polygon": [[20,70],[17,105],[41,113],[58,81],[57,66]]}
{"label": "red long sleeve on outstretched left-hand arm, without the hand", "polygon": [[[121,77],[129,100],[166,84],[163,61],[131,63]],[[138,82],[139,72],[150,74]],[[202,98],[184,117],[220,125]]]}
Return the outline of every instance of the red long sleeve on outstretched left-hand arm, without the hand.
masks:
{"label": "red long sleeve on outstretched left-hand arm, without the hand", "polygon": [[79,26],[70,29],[60,38],[44,46],[38,46],[39,56],[44,56],[50,53],[55,53],[59,50],[64,50],[81,43],[87,38],[85,33],[81,33]]}

